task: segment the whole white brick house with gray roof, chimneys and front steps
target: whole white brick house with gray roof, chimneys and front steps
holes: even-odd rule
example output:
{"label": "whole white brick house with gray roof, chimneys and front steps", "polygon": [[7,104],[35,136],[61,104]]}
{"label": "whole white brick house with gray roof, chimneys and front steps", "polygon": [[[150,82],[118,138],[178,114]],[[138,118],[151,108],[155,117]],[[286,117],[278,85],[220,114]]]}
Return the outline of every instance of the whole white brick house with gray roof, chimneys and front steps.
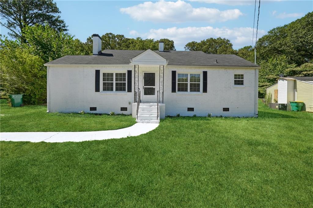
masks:
{"label": "whole white brick house with gray roof, chimneys and front steps", "polygon": [[[47,66],[49,112],[124,113],[138,122],[175,116],[258,116],[258,70],[236,55],[104,50]],[[140,101],[137,108],[137,101]]]}

